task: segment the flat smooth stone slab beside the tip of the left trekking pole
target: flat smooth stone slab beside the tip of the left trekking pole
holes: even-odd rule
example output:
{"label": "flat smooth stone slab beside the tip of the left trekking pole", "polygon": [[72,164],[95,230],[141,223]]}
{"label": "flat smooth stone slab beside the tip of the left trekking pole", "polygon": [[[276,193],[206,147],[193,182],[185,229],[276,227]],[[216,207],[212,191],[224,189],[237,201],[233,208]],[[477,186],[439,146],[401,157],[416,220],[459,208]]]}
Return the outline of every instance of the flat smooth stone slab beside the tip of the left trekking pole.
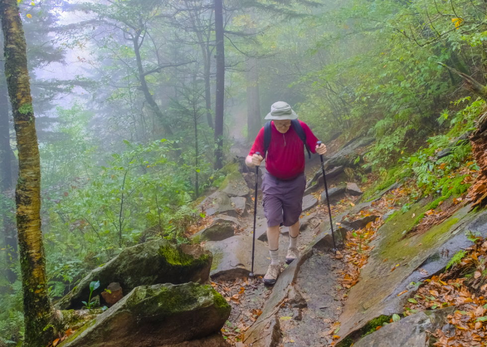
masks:
{"label": "flat smooth stone slab beside the tip of the left trekking pole", "polygon": [[[205,250],[213,253],[210,277],[234,280],[248,276],[252,267],[252,235],[237,235],[223,241],[209,241]],[[253,272],[264,276],[270,264],[269,250],[259,240],[255,240]]]}

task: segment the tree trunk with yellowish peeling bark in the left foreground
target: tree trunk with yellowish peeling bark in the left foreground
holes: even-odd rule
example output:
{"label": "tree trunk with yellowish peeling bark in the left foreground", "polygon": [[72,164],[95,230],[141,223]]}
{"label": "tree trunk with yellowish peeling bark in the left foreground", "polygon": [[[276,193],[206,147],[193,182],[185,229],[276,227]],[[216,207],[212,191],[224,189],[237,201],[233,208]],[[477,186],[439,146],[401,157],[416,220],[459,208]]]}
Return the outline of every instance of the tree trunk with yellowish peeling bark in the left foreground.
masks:
{"label": "tree trunk with yellowish peeling bark in the left foreground", "polygon": [[15,203],[22,272],[24,346],[39,347],[47,345],[51,339],[52,329],[47,327],[54,312],[48,293],[41,233],[39,147],[30,95],[25,37],[17,1],[2,0],[0,15],[4,37],[5,76],[19,157]]}

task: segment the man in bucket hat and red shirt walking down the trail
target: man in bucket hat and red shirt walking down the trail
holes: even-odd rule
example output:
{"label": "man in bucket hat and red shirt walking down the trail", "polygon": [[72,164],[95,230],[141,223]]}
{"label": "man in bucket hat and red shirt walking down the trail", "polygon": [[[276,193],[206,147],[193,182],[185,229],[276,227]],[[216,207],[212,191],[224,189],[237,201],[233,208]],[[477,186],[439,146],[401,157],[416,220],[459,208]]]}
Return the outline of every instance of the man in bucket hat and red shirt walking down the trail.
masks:
{"label": "man in bucket hat and red shirt walking down the trail", "polygon": [[274,284],[281,273],[278,258],[281,225],[289,226],[286,263],[291,264],[299,256],[299,216],[306,186],[303,147],[306,146],[308,153],[326,153],[326,146],[323,143],[318,145],[318,139],[311,129],[297,118],[289,104],[282,101],[274,103],[265,117],[271,121],[260,129],[245,159],[247,166],[255,167],[265,157],[267,174],[262,181],[262,193],[271,264],[264,276],[264,283],[268,285]]}

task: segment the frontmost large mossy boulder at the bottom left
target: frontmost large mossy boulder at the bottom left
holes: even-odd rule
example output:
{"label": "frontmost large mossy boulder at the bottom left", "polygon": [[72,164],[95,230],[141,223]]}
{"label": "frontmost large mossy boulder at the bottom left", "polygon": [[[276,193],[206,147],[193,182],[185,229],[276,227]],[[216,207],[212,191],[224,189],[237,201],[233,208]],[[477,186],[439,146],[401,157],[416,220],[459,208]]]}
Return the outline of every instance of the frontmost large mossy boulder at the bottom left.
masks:
{"label": "frontmost large mossy boulder at the bottom left", "polygon": [[179,344],[219,332],[230,311],[211,285],[139,286],[79,329],[63,347]]}

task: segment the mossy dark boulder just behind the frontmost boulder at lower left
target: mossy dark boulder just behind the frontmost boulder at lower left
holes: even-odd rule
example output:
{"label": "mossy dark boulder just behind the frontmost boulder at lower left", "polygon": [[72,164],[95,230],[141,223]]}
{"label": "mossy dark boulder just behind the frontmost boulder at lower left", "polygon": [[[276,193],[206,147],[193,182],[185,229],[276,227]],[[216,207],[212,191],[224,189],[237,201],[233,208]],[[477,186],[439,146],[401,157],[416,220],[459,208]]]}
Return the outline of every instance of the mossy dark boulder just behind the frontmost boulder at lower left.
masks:
{"label": "mossy dark boulder just behind the frontmost boulder at lower left", "polygon": [[91,281],[100,281],[91,297],[101,294],[112,282],[120,283],[125,293],[140,285],[204,283],[210,276],[212,259],[212,254],[199,245],[174,246],[165,239],[128,247],[105,265],[92,270],[55,307],[81,309],[81,301],[89,297]]}

